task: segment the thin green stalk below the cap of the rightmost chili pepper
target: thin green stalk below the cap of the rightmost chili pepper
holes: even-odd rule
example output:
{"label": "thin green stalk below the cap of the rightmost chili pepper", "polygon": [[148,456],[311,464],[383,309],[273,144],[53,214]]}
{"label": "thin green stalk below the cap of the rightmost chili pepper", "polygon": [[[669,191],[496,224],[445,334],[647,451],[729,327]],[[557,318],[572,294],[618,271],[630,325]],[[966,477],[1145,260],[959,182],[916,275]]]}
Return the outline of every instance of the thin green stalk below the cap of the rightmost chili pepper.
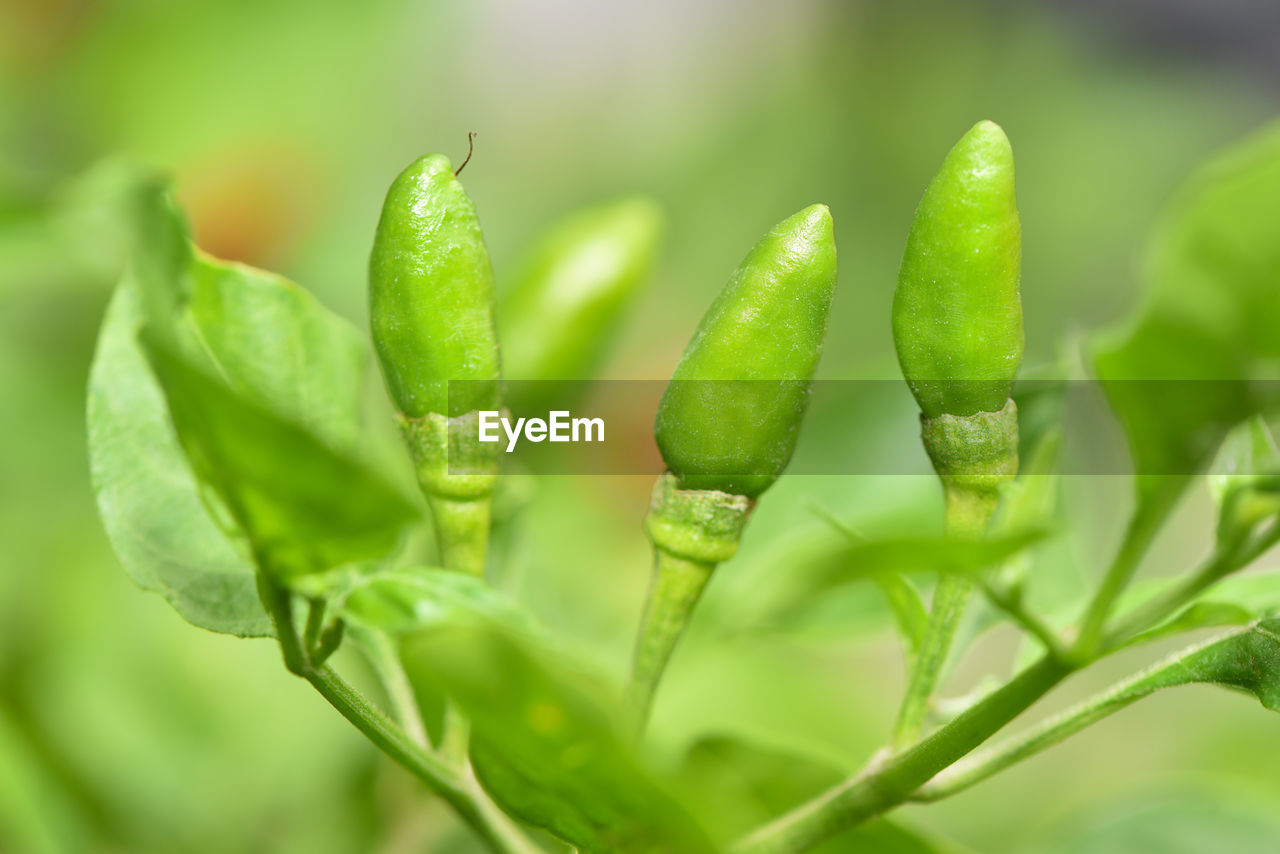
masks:
{"label": "thin green stalk below the cap of the rightmost chili pepper", "polygon": [[[946,485],[946,530],[948,535],[977,538],[987,529],[996,511],[997,495],[989,490]],[[905,748],[920,737],[924,721],[947,663],[951,644],[973,593],[973,580],[960,575],[943,575],[933,592],[929,622],[920,639],[911,668],[911,679],[893,726],[893,748]]]}

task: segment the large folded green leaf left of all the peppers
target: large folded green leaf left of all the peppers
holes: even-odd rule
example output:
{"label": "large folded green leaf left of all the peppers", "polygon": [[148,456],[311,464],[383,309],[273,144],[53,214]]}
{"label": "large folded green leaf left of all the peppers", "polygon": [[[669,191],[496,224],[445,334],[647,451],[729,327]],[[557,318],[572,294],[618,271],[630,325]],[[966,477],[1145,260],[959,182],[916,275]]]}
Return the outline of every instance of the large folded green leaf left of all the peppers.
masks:
{"label": "large folded green leaf left of all the peppers", "polygon": [[380,556],[417,511],[353,452],[358,334],[278,277],[198,257],[165,187],[138,191],[136,219],[90,387],[108,533],[196,625],[269,634],[255,562],[296,577]]}

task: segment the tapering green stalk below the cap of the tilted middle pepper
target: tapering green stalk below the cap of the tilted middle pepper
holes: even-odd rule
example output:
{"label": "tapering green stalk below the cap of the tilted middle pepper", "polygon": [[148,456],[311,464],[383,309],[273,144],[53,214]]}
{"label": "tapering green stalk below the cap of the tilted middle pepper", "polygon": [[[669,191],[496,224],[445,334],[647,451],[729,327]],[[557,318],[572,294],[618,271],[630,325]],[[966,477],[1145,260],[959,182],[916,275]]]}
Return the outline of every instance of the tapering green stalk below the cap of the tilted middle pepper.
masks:
{"label": "tapering green stalk below the cap of the tilted middle pepper", "polygon": [[653,557],[653,581],[640,621],[627,690],[627,705],[636,732],[644,731],[662,673],[716,568],[714,563],[691,561],[657,547]]}

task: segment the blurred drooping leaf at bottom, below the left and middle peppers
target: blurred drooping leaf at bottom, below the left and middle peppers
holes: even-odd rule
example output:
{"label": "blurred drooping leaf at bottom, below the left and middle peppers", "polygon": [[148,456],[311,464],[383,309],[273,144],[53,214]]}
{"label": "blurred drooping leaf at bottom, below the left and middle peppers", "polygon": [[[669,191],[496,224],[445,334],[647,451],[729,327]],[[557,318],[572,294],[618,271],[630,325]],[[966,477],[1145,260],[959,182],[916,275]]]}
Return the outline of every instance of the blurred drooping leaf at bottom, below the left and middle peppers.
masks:
{"label": "blurred drooping leaf at bottom, below the left and middle peppers", "polygon": [[457,624],[404,638],[406,671],[471,717],[471,757],[511,814],[584,854],[709,854],[710,841],[626,746],[611,691],[527,638]]}

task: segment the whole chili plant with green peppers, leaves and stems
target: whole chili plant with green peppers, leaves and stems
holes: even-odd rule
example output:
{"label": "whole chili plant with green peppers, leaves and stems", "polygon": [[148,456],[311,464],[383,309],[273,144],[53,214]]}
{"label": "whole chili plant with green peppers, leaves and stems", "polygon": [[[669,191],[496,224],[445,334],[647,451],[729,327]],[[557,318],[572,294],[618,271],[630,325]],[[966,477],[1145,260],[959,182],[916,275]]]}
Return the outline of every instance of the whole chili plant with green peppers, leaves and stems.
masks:
{"label": "whole chili plant with green peppers, leaves and stems", "polygon": [[[428,155],[396,178],[370,261],[372,351],[412,478],[370,453],[364,337],[294,284],[200,252],[160,181],[134,193],[137,250],[102,324],[88,421],[99,507],[133,579],[196,626],[274,638],[289,672],[489,849],[787,854],[840,836],[920,850],[925,840],[882,817],[982,782],[1156,690],[1210,682],[1280,711],[1280,577],[1242,574],[1280,539],[1280,452],[1266,421],[1280,402],[1266,382],[1280,360],[1280,127],[1187,184],[1152,238],[1146,307],[1085,348],[1135,490],[1126,533],[1075,612],[1038,611],[1025,595],[1064,515],[1064,428],[1015,402],[1012,151],[983,122],[943,159],[906,238],[892,330],[945,534],[876,540],[841,528],[824,552],[780,568],[801,598],[874,580],[909,653],[897,725],[846,780],[750,749],[728,750],[708,777],[696,763],[659,766],[645,743],[703,588],[732,571],[719,565],[801,438],[836,288],[831,213],[806,207],[755,243],[667,387],[655,414],[667,471],[644,524],[653,584],[634,668],[616,680],[486,580],[502,575],[489,544],[503,480],[476,420],[502,406],[503,341],[511,376],[582,379],[599,365],[660,215],[643,198],[577,214],[499,292],[460,172]],[[1212,551],[1170,580],[1134,584],[1206,475]],[[434,566],[403,548],[426,517]],[[1029,653],[1006,681],[947,700],[957,626],[974,609],[1021,630]],[[1103,657],[1224,626],[991,741]],[[330,665],[348,645],[371,665],[376,699]],[[753,780],[772,786],[777,814],[736,794]]]}

